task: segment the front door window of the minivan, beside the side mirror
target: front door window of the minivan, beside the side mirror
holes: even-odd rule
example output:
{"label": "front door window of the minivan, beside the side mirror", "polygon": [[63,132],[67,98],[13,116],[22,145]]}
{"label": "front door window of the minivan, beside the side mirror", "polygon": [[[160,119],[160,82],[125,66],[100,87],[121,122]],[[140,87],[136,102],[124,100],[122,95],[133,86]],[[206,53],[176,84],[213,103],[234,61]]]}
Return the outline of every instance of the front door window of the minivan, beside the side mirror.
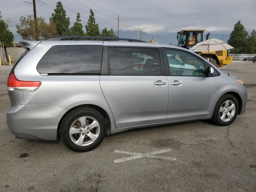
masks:
{"label": "front door window of the minivan, beside the side mirror", "polygon": [[204,62],[187,52],[166,50],[172,76],[206,76]]}

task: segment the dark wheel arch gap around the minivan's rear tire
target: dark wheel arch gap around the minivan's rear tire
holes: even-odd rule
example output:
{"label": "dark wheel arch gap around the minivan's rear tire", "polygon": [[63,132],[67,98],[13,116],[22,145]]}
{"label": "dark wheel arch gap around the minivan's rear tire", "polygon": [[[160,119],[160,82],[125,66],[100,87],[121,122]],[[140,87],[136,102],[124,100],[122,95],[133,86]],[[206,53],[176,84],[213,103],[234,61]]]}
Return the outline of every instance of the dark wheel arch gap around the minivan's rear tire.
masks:
{"label": "dark wheel arch gap around the minivan's rear tire", "polygon": [[100,114],[102,114],[102,116],[105,118],[106,120],[106,134],[110,135],[111,133],[111,120],[110,120],[110,116],[108,115],[108,113],[106,112],[106,110],[104,110],[102,107],[94,105],[94,104],[81,104],[78,106],[74,106],[73,108],[70,108],[60,119],[59,123],[58,123],[58,128],[57,128],[57,140],[60,139],[60,124],[62,122],[62,120],[72,111],[75,110],[77,108],[82,108],[82,107],[88,107],[88,108],[93,108],[95,110],[97,110],[98,112],[100,112]]}

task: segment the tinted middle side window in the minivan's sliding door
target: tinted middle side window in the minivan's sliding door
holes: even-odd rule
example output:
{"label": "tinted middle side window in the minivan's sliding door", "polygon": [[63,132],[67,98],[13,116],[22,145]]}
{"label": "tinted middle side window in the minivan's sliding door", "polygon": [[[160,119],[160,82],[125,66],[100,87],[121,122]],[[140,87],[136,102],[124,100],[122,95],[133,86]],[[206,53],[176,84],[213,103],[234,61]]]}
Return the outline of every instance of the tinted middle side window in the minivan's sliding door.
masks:
{"label": "tinted middle side window in the minivan's sliding door", "polygon": [[159,50],[156,48],[108,48],[111,75],[161,76]]}

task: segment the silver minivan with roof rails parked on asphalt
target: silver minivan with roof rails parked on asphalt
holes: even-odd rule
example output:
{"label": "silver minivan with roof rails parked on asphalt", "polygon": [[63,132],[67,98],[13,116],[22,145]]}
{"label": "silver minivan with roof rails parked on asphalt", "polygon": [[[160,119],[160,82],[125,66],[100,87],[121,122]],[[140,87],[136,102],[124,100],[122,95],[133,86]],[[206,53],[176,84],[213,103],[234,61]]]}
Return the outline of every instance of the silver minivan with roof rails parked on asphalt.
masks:
{"label": "silver minivan with roof rails parked on asphalt", "polygon": [[194,52],[132,39],[86,38],[21,42],[26,51],[7,82],[12,134],[60,136],[71,150],[88,151],[106,134],[198,119],[227,126],[246,110],[242,81]]}

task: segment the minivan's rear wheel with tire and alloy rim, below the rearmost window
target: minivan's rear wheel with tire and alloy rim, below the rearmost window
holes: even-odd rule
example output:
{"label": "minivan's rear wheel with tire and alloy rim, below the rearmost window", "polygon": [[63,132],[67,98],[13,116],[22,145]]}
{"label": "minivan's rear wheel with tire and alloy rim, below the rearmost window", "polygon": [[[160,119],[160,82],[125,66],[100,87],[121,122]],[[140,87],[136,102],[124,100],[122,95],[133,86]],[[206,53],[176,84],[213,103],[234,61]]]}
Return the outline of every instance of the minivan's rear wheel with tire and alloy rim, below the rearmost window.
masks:
{"label": "minivan's rear wheel with tire and alloy rim, below the rearmost window", "polygon": [[94,108],[82,107],[69,112],[60,124],[60,136],[71,150],[86,152],[96,148],[106,135],[106,122]]}

